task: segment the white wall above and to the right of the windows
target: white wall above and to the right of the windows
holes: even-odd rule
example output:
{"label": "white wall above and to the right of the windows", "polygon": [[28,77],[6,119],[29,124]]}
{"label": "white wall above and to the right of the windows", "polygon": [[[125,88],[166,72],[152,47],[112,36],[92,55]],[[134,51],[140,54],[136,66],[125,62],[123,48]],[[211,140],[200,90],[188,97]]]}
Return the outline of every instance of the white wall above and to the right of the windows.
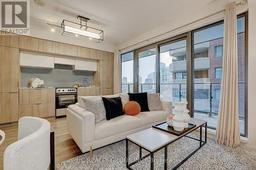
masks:
{"label": "white wall above and to the right of the windows", "polygon": [[[237,1],[241,2],[241,1]],[[178,28],[180,26],[185,25],[186,23],[189,23],[191,21],[195,21],[197,19],[200,19],[202,17],[205,17],[209,14],[215,13],[217,11],[220,11],[222,9],[225,9],[225,5],[227,2],[224,1],[212,1],[210,4],[205,6],[204,8],[200,10],[196,10],[191,13],[190,16],[181,16],[179,19],[173,20],[169,23],[166,23],[163,26],[160,26],[154,30],[148,31],[144,34],[141,34],[137,37],[134,37],[130,40],[127,40],[119,45],[119,49],[125,48],[127,46],[133,45],[135,43],[144,41],[148,38],[157,36],[159,34],[162,34],[164,32],[167,32],[169,30],[173,30],[175,28]],[[248,139],[247,142],[242,142],[242,146],[255,150],[256,151],[256,108],[253,106],[255,105],[255,99],[256,99],[256,1],[255,0],[248,0],[248,4],[243,6],[237,7],[237,13],[243,13],[245,11],[249,11],[249,28],[248,28]],[[216,22],[218,20],[222,20],[224,18],[224,12],[217,14],[215,16],[212,16],[210,18],[201,20],[199,22],[194,23],[193,25],[184,27],[178,31],[175,31],[173,33],[170,33],[168,35],[161,36],[159,38],[155,38],[154,40],[143,42],[139,45],[127,48],[121,53],[134,50],[138,47],[145,46],[147,44],[151,44],[169,37],[173,37],[182,33],[185,33],[187,31],[194,30],[196,28],[203,27],[205,25],[208,25],[209,23]],[[244,140],[243,140],[244,141]]]}

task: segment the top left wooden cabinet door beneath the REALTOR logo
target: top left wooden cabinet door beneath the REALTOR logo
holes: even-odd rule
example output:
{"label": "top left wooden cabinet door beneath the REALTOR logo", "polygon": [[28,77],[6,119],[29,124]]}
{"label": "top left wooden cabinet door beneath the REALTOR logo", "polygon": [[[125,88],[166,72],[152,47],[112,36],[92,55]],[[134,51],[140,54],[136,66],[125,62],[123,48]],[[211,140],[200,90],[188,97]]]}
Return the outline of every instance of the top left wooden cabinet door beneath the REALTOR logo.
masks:
{"label": "top left wooden cabinet door beneath the REALTOR logo", "polygon": [[9,46],[9,47],[18,47],[18,35],[0,35],[0,45]]}

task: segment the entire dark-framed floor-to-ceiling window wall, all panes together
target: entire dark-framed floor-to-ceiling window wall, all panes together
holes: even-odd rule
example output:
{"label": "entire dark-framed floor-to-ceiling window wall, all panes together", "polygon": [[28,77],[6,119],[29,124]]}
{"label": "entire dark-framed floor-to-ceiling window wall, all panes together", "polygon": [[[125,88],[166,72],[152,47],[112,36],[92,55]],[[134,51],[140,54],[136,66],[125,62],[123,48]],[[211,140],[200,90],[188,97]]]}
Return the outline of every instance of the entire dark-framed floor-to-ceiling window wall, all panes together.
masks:
{"label": "entire dark-framed floor-to-ceiling window wall, all panes together", "polygon": [[[237,20],[239,121],[243,136],[247,134],[246,17],[247,13],[241,14]],[[223,21],[219,21],[141,47],[134,54],[122,54],[122,92],[160,92],[161,100],[172,101],[173,105],[181,98],[187,98],[192,115],[206,119],[208,126],[215,129],[221,100],[223,31]],[[129,54],[132,57],[125,59]],[[130,66],[127,66],[128,61]],[[131,75],[130,81],[123,70]]]}

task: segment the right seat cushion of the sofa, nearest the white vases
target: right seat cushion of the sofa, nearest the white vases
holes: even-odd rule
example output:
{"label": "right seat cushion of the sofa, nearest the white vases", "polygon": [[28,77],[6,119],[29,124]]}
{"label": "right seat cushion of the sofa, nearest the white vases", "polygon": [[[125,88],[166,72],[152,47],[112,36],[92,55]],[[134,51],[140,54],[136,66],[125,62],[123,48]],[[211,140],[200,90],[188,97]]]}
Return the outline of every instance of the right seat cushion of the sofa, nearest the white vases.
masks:
{"label": "right seat cushion of the sofa, nearest the white vases", "polygon": [[135,115],[134,117],[138,117],[141,121],[142,126],[157,123],[161,120],[166,120],[168,112],[163,110],[154,110],[150,112],[140,112],[140,114]]}

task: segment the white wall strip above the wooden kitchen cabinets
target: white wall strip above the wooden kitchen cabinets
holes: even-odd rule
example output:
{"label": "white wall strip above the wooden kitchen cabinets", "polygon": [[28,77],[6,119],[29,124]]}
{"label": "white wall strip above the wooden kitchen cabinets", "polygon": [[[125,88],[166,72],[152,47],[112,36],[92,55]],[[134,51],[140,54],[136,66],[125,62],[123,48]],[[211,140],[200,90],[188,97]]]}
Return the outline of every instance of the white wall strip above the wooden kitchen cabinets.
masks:
{"label": "white wall strip above the wooden kitchen cabinets", "polygon": [[94,48],[97,50],[108,51],[108,52],[115,52],[115,49],[116,49],[115,45],[105,43],[105,41],[102,41],[100,43],[95,43],[95,42],[90,42],[86,40],[62,36],[60,28],[55,28],[55,32],[51,32],[50,26],[49,26],[49,29],[44,29],[44,28],[39,28],[31,25],[29,36],[78,45],[78,46]]}

